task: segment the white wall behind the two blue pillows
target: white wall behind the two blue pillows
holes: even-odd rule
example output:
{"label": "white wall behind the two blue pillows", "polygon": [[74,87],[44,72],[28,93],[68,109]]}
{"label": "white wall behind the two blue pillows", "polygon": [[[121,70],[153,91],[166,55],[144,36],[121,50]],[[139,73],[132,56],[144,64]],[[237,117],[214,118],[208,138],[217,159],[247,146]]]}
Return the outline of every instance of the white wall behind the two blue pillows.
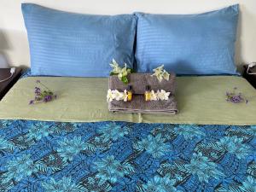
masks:
{"label": "white wall behind the two blue pillows", "polygon": [[143,11],[193,14],[240,3],[236,64],[256,61],[256,0],[0,0],[0,55],[10,65],[29,66],[29,48],[20,3],[38,3],[71,12],[114,15]]}

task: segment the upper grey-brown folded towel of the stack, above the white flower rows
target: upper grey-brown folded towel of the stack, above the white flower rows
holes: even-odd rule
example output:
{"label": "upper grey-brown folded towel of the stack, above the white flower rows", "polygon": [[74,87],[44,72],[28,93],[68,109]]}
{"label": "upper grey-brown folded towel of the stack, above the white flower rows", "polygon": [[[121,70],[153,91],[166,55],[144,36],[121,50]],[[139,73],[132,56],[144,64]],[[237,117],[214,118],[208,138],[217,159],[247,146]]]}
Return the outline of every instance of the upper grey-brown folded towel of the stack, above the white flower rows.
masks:
{"label": "upper grey-brown folded towel of the stack, above the white flower rows", "polygon": [[[144,94],[146,86],[150,86],[150,90],[166,90],[171,92],[170,95],[174,95],[175,92],[175,74],[170,73],[169,80],[163,79],[161,82],[150,73],[131,73],[128,75],[129,84],[132,86],[132,92],[134,94]],[[110,76],[108,79],[108,89],[110,90],[128,90],[128,84],[124,84],[120,81],[117,75]]]}

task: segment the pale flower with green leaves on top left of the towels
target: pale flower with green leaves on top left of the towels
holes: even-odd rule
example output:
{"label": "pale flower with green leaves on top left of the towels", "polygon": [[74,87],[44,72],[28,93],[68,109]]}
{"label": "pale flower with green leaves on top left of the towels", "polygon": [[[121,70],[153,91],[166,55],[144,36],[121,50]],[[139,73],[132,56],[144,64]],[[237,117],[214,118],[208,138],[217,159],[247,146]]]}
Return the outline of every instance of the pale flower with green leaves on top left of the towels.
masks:
{"label": "pale flower with green leaves on top left of the towels", "polygon": [[112,63],[110,63],[109,65],[113,68],[113,70],[110,72],[110,76],[118,75],[119,80],[122,81],[124,84],[129,83],[127,75],[129,73],[133,73],[133,69],[127,68],[126,63],[125,63],[125,67],[123,68],[119,67],[119,64],[114,59]]}

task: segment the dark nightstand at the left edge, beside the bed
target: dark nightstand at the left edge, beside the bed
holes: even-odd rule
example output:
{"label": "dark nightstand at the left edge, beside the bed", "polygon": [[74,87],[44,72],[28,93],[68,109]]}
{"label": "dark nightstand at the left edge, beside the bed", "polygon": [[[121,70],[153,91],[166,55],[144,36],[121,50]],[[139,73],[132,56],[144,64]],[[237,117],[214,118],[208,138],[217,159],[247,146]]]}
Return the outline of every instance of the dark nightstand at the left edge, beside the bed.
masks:
{"label": "dark nightstand at the left edge, beside the bed", "polygon": [[[0,81],[3,79],[9,78],[11,75],[10,68],[0,68]],[[13,76],[0,83],[0,101],[2,100],[3,96],[9,91],[9,89],[17,82],[21,75],[21,68],[15,67],[15,73]]]}

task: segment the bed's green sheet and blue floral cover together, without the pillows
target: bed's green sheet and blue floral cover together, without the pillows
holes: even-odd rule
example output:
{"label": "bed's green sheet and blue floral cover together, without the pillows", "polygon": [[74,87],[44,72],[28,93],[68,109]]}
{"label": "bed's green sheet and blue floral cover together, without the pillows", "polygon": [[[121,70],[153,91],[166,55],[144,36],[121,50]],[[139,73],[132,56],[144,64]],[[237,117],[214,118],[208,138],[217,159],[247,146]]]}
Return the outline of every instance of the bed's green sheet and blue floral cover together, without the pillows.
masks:
{"label": "bed's green sheet and blue floral cover together, without the pillows", "polygon": [[[40,79],[58,98],[28,105]],[[225,101],[237,87],[249,102]],[[1,191],[254,191],[256,92],[177,77],[177,115],[110,113],[107,78],[26,77],[0,103]]]}

